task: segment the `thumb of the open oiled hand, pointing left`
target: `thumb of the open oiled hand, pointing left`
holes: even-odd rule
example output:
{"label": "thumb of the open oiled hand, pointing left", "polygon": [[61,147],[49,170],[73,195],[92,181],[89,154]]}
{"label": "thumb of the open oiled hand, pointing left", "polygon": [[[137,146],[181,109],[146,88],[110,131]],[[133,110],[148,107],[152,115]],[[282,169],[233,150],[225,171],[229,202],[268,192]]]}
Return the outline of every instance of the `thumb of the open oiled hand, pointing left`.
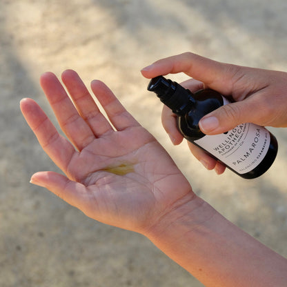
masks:
{"label": "thumb of the open oiled hand, pointing left", "polygon": [[87,192],[86,186],[79,182],[71,181],[57,172],[37,172],[32,175],[30,183],[47,188],[68,204],[83,209]]}

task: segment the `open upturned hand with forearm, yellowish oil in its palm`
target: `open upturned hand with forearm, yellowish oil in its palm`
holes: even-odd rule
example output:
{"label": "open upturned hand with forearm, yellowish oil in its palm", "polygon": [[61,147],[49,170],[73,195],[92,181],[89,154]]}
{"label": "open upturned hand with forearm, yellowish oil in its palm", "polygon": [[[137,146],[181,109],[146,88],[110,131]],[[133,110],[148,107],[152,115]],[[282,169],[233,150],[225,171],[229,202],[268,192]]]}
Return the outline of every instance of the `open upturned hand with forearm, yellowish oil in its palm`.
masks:
{"label": "open upturned hand with forearm, yellowish oil in its palm", "polygon": [[[21,111],[63,174],[37,172],[31,182],[105,224],[139,232],[206,286],[286,286],[287,260],[197,197],[166,150],[101,81],[91,88],[75,71],[47,72],[41,87],[59,135],[32,99]],[[72,101],[70,100],[72,99]]]}

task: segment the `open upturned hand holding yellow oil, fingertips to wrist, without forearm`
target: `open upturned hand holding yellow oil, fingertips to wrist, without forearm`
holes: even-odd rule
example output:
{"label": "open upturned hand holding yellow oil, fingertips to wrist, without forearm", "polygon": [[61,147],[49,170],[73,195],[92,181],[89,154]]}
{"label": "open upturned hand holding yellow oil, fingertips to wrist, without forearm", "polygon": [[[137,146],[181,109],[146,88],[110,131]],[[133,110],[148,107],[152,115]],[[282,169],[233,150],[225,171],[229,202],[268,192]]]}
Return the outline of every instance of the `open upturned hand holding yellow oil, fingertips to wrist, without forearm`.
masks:
{"label": "open upturned hand holding yellow oil, fingertips to wrist, without forearm", "polygon": [[21,110],[43,150],[61,168],[37,172],[31,182],[44,186],[103,223],[142,232],[190,194],[190,185],[164,148],[126,111],[101,81],[92,91],[100,112],[76,72],[62,74],[70,97],[48,72],[41,86],[65,137],[59,135],[32,99]]}

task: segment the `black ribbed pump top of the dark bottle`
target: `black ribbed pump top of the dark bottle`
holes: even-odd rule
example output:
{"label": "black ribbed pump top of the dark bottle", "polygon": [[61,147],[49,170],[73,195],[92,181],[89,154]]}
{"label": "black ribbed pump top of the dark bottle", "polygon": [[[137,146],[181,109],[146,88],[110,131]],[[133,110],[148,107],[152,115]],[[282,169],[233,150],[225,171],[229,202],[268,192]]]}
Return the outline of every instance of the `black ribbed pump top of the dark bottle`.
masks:
{"label": "black ribbed pump top of the dark bottle", "polygon": [[162,76],[153,78],[148,85],[148,90],[155,92],[157,97],[179,116],[184,115],[190,106],[195,104],[190,90]]}

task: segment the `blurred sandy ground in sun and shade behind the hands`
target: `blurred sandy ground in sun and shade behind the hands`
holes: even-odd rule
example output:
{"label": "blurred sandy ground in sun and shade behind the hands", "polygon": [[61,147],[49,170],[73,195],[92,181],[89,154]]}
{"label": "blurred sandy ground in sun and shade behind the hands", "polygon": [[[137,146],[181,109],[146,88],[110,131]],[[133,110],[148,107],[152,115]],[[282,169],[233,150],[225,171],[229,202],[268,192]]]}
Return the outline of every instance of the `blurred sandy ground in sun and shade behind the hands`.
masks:
{"label": "blurred sandy ground in sun and shade behind the hands", "polygon": [[[19,100],[48,115],[39,75],[66,68],[105,81],[170,152],[195,192],[230,221],[287,256],[287,134],[252,181],[206,171],[161,128],[161,106],[139,70],[185,51],[275,70],[287,66],[286,0],[0,0],[0,286],[202,286],[141,235],[105,226],[29,184],[57,170],[23,121]],[[174,75],[181,81],[184,75]]]}

